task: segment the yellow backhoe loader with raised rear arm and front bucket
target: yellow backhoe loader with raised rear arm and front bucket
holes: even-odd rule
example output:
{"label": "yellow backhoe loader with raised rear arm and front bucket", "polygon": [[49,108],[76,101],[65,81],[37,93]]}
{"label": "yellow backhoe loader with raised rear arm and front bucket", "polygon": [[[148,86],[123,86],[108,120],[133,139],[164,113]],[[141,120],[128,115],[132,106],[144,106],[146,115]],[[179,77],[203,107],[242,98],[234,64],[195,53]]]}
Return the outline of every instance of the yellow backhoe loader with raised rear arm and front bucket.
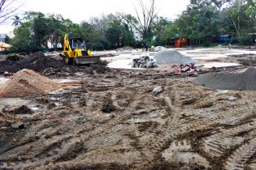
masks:
{"label": "yellow backhoe loader with raised rear arm and front bucket", "polygon": [[67,33],[64,37],[63,57],[65,57],[65,62],[68,65],[96,64],[100,62],[99,56],[92,56],[91,51],[85,48],[85,40],[68,38]]}

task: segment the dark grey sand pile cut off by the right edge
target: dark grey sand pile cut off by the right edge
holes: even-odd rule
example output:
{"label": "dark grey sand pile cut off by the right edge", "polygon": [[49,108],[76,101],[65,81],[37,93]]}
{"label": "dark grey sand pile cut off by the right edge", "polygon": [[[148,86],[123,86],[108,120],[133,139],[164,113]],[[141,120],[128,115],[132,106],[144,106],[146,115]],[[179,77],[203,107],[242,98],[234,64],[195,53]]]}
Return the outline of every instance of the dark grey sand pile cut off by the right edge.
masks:
{"label": "dark grey sand pile cut off by the right edge", "polygon": [[256,69],[249,68],[243,73],[209,73],[193,80],[197,85],[214,89],[255,91]]}

